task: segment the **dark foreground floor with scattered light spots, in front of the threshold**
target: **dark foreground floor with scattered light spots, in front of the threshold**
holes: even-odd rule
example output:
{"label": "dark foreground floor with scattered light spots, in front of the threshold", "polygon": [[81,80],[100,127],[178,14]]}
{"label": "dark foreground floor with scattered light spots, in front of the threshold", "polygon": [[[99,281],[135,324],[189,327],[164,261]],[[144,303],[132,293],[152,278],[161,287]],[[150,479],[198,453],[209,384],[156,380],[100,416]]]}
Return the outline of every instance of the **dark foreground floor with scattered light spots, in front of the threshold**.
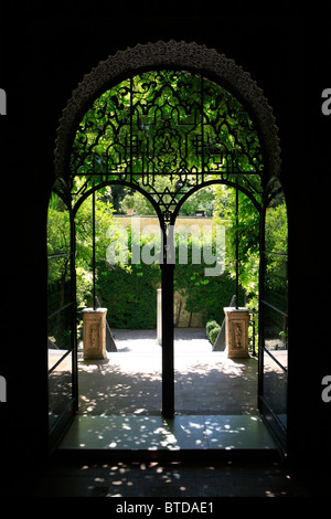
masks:
{"label": "dark foreground floor with scattered light spots, in front of the threshold", "polygon": [[[305,497],[280,463],[110,462],[54,465],[36,497]],[[121,501],[120,501],[121,502]],[[128,501],[136,502],[136,501]],[[139,501],[140,502],[140,501]],[[223,502],[218,511],[222,515]]]}

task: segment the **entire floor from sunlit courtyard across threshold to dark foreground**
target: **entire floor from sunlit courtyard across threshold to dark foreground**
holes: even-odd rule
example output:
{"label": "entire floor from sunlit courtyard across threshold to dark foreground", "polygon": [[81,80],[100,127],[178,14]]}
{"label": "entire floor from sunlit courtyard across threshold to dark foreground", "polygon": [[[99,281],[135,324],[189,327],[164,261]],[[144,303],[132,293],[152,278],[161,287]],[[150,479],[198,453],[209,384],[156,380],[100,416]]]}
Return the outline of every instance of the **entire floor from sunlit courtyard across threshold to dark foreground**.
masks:
{"label": "entire floor from sunlit courtyard across threshold to dark foreground", "polygon": [[[229,360],[223,352],[212,351],[204,330],[177,329],[177,415],[166,421],[161,416],[161,347],[156,331],[113,333],[118,351],[109,352],[105,361],[84,361],[79,352],[79,412],[60,447],[62,456],[41,475],[34,496],[310,496],[311,488],[302,488],[286,466],[264,457],[273,452],[273,444],[256,409],[255,358]],[[92,441],[89,448],[97,451],[84,448]],[[143,442],[145,448],[170,449],[171,457],[131,459]],[[263,454],[258,457],[252,442],[260,443]],[[253,448],[253,457],[235,456],[242,447]],[[191,457],[183,460],[185,448]],[[229,457],[218,457],[215,449],[225,449]],[[201,457],[209,452],[214,458]]]}

